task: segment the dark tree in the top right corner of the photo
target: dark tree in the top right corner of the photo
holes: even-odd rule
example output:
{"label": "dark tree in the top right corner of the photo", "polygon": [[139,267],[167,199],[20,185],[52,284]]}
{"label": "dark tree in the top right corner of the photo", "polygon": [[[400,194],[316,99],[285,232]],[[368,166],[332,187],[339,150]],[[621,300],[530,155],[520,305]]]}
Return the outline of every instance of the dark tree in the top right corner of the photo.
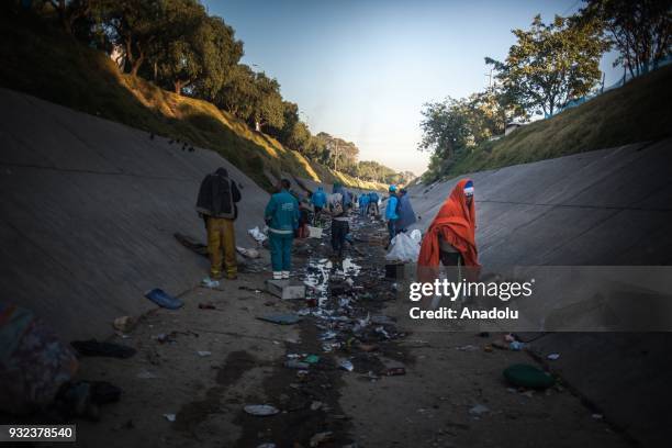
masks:
{"label": "dark tree in the top right corner of the photo", "polygon": [[583,21],[597,20],[620,52],[614,66],[623,65],[631,76],[670,55],[672,44],[672,0],[584,0]]}

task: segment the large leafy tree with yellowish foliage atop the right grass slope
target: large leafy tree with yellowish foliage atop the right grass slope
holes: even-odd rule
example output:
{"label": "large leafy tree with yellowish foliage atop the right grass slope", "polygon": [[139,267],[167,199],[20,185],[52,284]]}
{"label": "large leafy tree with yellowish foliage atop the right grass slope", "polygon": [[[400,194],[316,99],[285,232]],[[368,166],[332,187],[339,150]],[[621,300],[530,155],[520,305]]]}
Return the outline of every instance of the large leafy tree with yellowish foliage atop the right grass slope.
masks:
{"label": "large leafy tree with yellowish foliage atop the right grass slope", "polygon": [[556,16],[545,24],[537,15],[528,31],[514,30],[517,43],[504,63],[490,57],[496,78],[512,103],[526,112],[552,115],[569,101],[585,96],[600,80],[600,58],[609,48],[592,21],[575,23]]}

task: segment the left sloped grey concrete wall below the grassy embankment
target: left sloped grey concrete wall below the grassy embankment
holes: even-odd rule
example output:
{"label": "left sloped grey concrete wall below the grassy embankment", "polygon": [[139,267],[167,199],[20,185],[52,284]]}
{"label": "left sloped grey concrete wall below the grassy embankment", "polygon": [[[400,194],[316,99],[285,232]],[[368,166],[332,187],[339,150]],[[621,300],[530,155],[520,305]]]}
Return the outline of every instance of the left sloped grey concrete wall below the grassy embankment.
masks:
{"label": "left sloped grey concrete wall below the grassy embankment", "polygon": [[264,224],[268,194],[217,154],[0,89],[0,290],[65,338],[103,337],[111,322],[179,294],[208,262],[172,234],[204,240],[202,178],[228,169],[242,187],[236,237]]}

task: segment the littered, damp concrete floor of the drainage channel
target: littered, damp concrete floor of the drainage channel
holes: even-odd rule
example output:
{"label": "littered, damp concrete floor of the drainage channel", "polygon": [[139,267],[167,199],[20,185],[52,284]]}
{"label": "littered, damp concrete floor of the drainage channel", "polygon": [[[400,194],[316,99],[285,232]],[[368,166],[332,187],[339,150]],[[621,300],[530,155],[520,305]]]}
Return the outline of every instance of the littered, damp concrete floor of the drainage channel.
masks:
{"label": "littered, damp concrete floor of the drainage channel", "polygon": [[[374,232],[382,232],[382,226],[365,224],[354,236]],[[326,238],[299,245],[310,245],[310,257],[321,258],[329,253]],[[305,255],[305,249],[296,251]],[[361,266],[360,275],[351,277],[355,287],[369,279],[369,292],[390,289],[389,281],[376,279],[382,254],[382,247],[366,244],[350,253]],[[298,257],[295,265],[301,268],[309,261]],[[405,337],[381,341],[378,351],[325,354],[318,339],[323,329],[316,328],[313,317],[287,326],[256,318],[304,305],[255,292],[266,278],[268,272],[242,273],[221,290],[189,291],[179,311],[148,313],[130,338],[113,339],[136,347],[133,358],[85,358],[81,378],[110,381],[124,393],[119,403],[101,410],[100,422],[78,422],[78,445],[309,447],[312,437],[326,432],[331,439],[321,447],[629,445],[568,389],[533,393],[511,389],[502,370],[534,361],[523,351],[484,351],[490,339],[472,333],[413,328]],[[208,302],[215,310],[199,309],[199,303]],[[395,306],[394,301],[362,304],[378,314],[385,314],[385,304],[389,310]],[[173,344],[156,340],[171,332],[177,332]],[[202,350],[211,356],[199,356]],[[288,354],[303,352],[322,357],[307,378],[283,367]],[[337,368],[344,356],[352,359],[355,371]],[[369,371],[381,363],[403,365],[406,374],[372,378]],[[266,403],[281,413],[257,417],[243,411],[246,404]],[[479,404],[489,411],[470,413]],[[175,422],[165,414],[175,414]]]}

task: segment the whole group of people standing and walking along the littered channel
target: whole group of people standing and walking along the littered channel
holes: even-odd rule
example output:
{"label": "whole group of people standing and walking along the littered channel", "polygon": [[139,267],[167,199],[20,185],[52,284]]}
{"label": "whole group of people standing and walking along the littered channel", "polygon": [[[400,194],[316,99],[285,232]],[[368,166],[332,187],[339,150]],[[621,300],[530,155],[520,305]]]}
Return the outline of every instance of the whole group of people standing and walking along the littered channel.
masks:
{"label": "whole group of people standing and walking along the littered channel", "polygon": [[[291,191],[291,183],[287,179],[280,180],[276,190],[264,213],[275,280],[290,278],[292,245],[296,234],[301,234],[301,225],[307,221],[306,208],[312,209],[314,216],[326,215],[331,219],[332,249],[337,257],[343,257],[355,204],[360,216],[369,216],[371,213],[379,215],[378,193],[361,193],[357,197],[340,183],[334,183],[332,194],[318,187],[312,192],[310,201],[303,203]],[[236,204],[240,198],[236,182],[228,178],[224,168],[205,176],[201,182],[197,211],[208,231],[212,280],[221,279],[224,275],[227,279],[237,277],[234,221],[238,215]],[[405,189],[390,186],[384,220],[390,242],[417,221]],[[478,267],[474,234],[473,182],[463,179],[456,184],[423,237],[417,260],[418,272],[419,269],[436,268],[439,264]]]}

